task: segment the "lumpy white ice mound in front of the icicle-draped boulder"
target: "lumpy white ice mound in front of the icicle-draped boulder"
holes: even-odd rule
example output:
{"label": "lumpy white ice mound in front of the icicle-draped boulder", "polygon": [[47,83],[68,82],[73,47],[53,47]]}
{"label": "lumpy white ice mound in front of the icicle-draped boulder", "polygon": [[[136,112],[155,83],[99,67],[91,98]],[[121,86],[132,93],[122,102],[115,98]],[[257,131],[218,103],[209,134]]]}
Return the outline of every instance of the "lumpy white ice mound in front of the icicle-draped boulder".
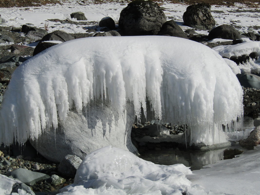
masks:
{"label": "lumpy white ice mound in front of the icicle-draped boulder", "polygon": [[61,189],[61,194],[181,195],[191,185],[186,174],[192,172],[183,164],[156,165],[131,152],[106,146],[86,156],[74,184]]}

